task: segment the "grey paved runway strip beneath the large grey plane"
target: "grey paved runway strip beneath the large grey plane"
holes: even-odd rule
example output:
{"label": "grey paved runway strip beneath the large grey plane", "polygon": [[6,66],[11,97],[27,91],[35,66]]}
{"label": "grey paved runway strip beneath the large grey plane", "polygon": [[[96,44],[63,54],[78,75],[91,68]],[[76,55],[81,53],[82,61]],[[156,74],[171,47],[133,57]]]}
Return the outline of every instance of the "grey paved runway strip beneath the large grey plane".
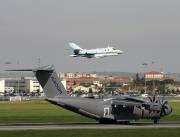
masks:
{"label": "grey paved runway strip beneath the large grey plane", "polygon": [[98,124],[98,123],[44,123],[44,124],[0,124],[0,131],[6,130],[68,130],[68,129],[153,129],[180,128],[178,123],[130,123],[130,124]]}

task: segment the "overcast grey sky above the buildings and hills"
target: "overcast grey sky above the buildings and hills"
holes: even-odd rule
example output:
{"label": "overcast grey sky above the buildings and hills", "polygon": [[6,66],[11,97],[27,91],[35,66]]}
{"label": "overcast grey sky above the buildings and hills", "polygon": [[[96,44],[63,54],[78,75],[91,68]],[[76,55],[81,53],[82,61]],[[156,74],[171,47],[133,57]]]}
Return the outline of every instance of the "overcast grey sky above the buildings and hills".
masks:
{"label": "overcast grey sky above the buildings and hills", "polygon": [[[40,55],[41,66],[52,64],[57,72],[180,73],[179,5],[179,0],[0,0],[0,72],[37,68]],[[85,49],[111,46],[123,54],[72,58],[71,42]]]}

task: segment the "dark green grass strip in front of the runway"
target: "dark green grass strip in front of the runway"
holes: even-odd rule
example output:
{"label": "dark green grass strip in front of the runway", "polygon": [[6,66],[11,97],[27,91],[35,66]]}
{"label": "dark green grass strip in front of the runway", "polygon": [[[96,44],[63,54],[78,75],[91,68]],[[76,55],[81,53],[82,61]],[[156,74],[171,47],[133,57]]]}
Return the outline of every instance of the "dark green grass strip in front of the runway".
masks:
{"label": "dark green grass strip in front of the runway", "polygon": [[179,137],[180,129],[0,131],[1,137]]}

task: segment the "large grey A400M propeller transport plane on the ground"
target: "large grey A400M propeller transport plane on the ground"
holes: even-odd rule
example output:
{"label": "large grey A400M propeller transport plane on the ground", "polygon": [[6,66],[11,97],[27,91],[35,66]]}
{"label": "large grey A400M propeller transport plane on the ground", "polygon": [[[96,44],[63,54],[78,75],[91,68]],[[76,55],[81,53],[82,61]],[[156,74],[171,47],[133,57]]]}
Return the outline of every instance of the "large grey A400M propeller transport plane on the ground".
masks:
{"label": "large grey A400M propeller transport plane on the ground", "polygon": [[172,112],[167,101],[155,97],[146,99],[130,96],[99,99],[71,97],[58,78],[53,65],[9,71],[33,71],[47,96],[47,101],[95,119],[101,124],[129,123],[141,118],[152,119],[154,123],[159,123],[159,119]]}

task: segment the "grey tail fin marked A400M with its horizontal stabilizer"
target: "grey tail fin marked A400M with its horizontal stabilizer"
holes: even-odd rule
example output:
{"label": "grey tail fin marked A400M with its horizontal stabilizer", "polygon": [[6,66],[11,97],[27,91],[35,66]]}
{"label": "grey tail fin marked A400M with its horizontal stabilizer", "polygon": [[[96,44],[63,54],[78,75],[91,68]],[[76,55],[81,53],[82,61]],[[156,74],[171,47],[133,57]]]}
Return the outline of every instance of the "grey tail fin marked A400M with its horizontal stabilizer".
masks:
{"label": "grey tail fin marked A400M with its horizontal stabilizer", "polygon": [[48,65],[36,69],[9,71],[33,71],[48,98],[55,96],[68,96],[68,93],[58,78],[53,65]]}

